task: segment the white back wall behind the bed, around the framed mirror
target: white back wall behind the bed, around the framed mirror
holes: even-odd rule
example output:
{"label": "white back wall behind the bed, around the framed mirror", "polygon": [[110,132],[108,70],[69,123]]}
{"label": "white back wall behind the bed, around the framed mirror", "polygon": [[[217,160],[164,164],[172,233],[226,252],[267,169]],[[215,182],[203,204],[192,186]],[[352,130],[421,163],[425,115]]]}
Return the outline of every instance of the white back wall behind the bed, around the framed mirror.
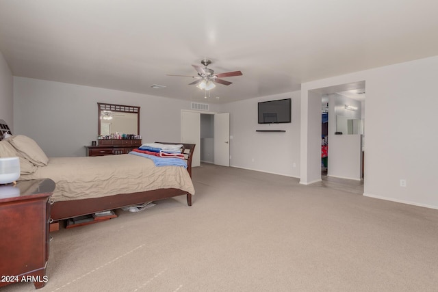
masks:
{"label": "white back wall behind the bed, around the framed mirror", "polygon": [[140,106],[143,142],[179,142],[181,109],[190,109],[175,98],[14,77],[14,133],[32,137],[49,157],[85,156],[97,137],[98,102]]}

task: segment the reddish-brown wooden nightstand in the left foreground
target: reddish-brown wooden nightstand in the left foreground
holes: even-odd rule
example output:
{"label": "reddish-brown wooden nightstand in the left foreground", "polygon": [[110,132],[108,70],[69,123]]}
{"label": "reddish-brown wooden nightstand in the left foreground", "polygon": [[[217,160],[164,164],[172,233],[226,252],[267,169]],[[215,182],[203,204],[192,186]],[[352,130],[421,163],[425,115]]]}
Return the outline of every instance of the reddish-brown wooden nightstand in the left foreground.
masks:
{"label": "reddish-brown wooden nightstand in the left foreground", "polygon": [[49,280],[49,198],[54,189],[49,178],[0,185],[0,287],[33,282],[38,289]]}

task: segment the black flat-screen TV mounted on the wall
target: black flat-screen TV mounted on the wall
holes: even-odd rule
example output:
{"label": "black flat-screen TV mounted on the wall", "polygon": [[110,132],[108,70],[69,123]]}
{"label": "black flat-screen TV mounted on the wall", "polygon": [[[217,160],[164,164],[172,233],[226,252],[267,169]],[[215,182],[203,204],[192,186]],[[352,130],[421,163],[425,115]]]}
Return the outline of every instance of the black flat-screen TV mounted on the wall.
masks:
{"label": "black flat-screen TV mounted on the wall", "polygon": [[263,101],[259,103],[259,124],[280,124],[291,122],[291,99]]}

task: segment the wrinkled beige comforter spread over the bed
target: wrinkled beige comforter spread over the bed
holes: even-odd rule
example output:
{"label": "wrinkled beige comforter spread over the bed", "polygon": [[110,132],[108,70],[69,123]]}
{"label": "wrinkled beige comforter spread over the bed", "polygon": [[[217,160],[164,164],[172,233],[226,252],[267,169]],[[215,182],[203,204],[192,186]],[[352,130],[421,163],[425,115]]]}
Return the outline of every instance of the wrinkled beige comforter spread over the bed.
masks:
{"label": "wrinkled beige comforter spread over the bed", "polygon": [[151,159],[136,155],[51,157],[47,166],[20,180],[51,178],[56,183],[51,198],[79,200],[175,188],[194,194],[192,179],[179,166],[156,167]]}

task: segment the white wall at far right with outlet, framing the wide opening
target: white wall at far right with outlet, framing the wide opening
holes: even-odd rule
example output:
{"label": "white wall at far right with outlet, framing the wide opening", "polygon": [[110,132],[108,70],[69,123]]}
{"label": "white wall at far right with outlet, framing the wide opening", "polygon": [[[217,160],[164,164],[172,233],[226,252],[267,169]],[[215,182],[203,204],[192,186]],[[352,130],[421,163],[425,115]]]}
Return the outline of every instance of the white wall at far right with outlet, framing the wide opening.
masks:
{"label": "white wall at far right with outlet, framing the wide opening", "polygon": [[[435,56],[303,83],[302,111],[312,110],[313,105],[303,103],[308,90],[365,80],[365,196],[438,209],[437,77]],[[312,131],[306,120],[302,131]],[[301,161],[307,163],[307,157]],[[302,178],[320,172],[309,165],[302,169],[306,171]],[[407,181],[407,187],[400,187],[400,179]]]}

